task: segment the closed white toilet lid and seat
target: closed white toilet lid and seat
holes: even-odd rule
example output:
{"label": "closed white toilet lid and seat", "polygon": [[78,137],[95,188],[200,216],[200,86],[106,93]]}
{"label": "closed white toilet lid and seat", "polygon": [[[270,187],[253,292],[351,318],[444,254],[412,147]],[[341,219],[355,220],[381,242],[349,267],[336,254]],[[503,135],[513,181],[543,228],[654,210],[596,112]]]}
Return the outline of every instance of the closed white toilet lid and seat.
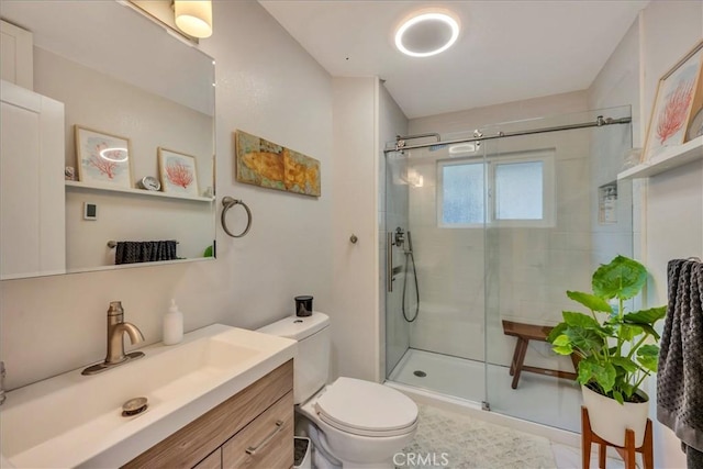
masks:
{"label": "closed white toilet lid and seat", "polygon": [[386,386],[338,378],[317,399],[315,410],[327,424],[356,435],[392,436],[410,432],[417,422],[417,405]]}

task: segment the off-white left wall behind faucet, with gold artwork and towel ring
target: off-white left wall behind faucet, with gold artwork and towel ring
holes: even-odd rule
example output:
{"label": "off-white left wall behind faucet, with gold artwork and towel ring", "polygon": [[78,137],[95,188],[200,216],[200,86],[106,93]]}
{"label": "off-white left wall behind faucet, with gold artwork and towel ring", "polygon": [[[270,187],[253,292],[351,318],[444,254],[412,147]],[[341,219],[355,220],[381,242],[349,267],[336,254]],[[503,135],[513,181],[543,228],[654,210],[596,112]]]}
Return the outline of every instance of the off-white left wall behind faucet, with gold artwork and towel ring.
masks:
{"label": "off-white left wall behind faucet, with gold artwork and towel ring", "polygon": [[[122,300],[125,320],[147,343],[160,340],[170,298],[187,331],[215,322],[258,327],[292,314],[298,294],[314,295],[317,310],[334,309],[332,80],[257,2],[219,1],[213,9],[215,33],[201,48],[216,60],[217,203],[243,199],[254,213],[252,231],[234,239],[219,227],[213,261],[0,282],[9,389],[104,358],[113,300]],[[319,159],[322,197],[236,183],[235,129]],[[236,212],[228,214],[232,230]],[[375,205],[366,213],[373,216]]]}

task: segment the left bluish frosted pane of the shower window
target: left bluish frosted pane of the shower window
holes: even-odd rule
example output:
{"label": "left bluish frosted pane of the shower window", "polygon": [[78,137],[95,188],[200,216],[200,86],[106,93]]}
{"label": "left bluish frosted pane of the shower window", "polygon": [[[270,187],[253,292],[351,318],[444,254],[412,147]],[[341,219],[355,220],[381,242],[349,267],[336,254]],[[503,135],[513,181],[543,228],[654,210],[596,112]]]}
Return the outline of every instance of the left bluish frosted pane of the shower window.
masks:
{"label": "left bluish frosted pane of the shower window", "polygon": [[445,165],[442,168],[442,224],[483,223],[483,164]]}

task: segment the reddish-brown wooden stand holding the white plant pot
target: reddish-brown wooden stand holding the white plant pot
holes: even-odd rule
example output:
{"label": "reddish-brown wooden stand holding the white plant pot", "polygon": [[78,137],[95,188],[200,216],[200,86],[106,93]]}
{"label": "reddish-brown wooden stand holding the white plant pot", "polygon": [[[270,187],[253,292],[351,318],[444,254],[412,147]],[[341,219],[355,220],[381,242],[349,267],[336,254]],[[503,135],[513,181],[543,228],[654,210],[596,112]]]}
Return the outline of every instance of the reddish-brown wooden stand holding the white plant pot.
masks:
{"label": "reddish-brown wooden stand holding the white plant pot", "polygon": [[625,446],[616,446],[610,442],[604,440],[598,436],[591,429],[591,421],[589,418],[589,411],[585,406],[581,406],[581,456],[583,460],[583,469],[591,467],[591,444],[596,443],[600,445],[598,450],[598,467],[605,469],[605,449],[607,446],[612,446],[620,454],[625,461],[625,469],[635,469],[636,454],[641,454],[644,462],[644,469],[654,469],[655,458],[652,451],[652,436],[651,436],[651,421],[647,418],[647,426],[645,427],[645,439],[639,448],[635,448],[635,432],[627,428],[625,431]]}

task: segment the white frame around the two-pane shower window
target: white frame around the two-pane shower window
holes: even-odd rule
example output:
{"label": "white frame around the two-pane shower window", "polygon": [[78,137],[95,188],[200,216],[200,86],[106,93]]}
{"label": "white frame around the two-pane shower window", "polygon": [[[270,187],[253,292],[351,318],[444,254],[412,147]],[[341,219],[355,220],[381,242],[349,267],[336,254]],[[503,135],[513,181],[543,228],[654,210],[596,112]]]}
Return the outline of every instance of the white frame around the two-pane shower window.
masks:
{"label": "white frame around the two-pane shower window", "polygon": [[[544,148],[536,150],[514,152],[505,154],[438,159],[437,170],[437,226],[440,228],[477,228],[483,226],[492,227],[554,227],[556,225],[556,179],[555,179],[555,148]],[[516,163],[542,163],[542,213],[539,220],[532,219],[510,219],[500,220],[496,217],[495,204],[495,172],[499,165],[510,165]],[[483,222],[482,223],[445,223],[444,222],[444,168],[460,165],[483,166]]]}

